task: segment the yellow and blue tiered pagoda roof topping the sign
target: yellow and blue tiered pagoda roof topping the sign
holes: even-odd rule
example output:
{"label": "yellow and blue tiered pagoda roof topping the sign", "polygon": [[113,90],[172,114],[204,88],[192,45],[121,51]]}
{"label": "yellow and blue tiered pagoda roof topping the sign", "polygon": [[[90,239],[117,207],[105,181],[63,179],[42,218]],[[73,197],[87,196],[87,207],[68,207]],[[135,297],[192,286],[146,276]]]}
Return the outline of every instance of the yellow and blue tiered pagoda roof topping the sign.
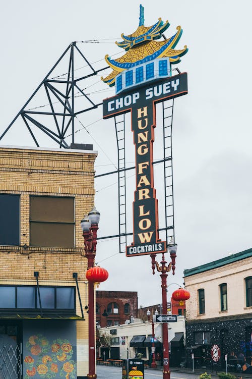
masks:
{"label": "yellow and blue tiered pagoda roof topping the sign", "polygon": [[[101,77],[101,80],[109,86],[114,86],[116,76],[122,71],[133,69],[158,58],[168,58],[170,64],[179,63],[180,57],[187,52],[187,47],[184,46],[179,50],[175,49],[182,34],[180,26],[177,26],[177,32],[173,36],[166,38],[163,35],[169,26],[169,22],[163,22],[161,18],[152,26],[144,26],[144,7],[140,5],[137,30],[129,35],[122,33],[122,41],[115,42],[118,47],[126,51],[125,54],[115,60],[108,55],[105,56],[106,63],[113,71],[107,77]],[[161,37],[164,40],[158,41]]]}

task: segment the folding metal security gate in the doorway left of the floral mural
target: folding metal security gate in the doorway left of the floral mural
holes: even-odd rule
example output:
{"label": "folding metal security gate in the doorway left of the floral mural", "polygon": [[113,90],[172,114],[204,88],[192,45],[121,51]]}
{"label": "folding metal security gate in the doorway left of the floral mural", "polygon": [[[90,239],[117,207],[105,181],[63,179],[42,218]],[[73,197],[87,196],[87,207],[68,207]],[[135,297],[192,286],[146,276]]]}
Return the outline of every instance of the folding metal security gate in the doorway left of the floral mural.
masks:
{"label": "folding metal security gate in the doorway left of the floral mural", "polygon": [[0,346],[0,379],[21,379],[21,345]]}

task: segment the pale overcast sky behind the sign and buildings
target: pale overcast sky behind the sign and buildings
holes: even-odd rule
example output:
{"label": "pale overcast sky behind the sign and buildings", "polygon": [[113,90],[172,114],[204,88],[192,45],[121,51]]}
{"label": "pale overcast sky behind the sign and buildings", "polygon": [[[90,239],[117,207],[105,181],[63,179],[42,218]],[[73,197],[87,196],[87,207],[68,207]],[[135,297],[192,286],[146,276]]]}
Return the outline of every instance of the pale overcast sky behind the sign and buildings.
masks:
{"label": "pale overcast sky behind the sign and buildings", "polygon": [[[91,63],[102,60],[106,53],[122,55],[123,50],[113,42],[120,40],[121,33],[130,34],[137,29],[139,5],[140,2],[133,0],[3,3],[0,132],[72,41],[99,40],[99,43],[78,44]],[[182,284],[185,268],[252,247],[252,7],[248,0],[142,1],[142,5],[146,26],[153,25],[159,17],[169,20],[170,27],[165,32],[168,37],[181,25],[183,34],[176,47],[183,48],[185,44],[188,47],[177,65],[181,72],[188,73],[188,94],[175,99],[174,106],[173,174],[178,248],[176,274],[168,277],[169,283]],[[78,64],[81,67],[81,62]],[[96,66],[102,68],[106,64],[100,61]],[[58,75],[66,71],[67,67],[62,66]],[[96,76],[89,83],[97,102],[114,94],[99,78]],[[32,105],[41,106],[46,104],[44,101],[41,96]],[[79,117],[85,126],[98,120],[88,127],[90,134],[81,124],[76,124],[76,129],[81,130],[76,133],[75,141],[92,143],[99,152],[97,173],[114,170],[112,163],[116,166],[117,156],[113,119],[101,118],[101,107],[91,115]],[[127,128],[132,141],[130,124]],[[37,136],[41,146],[57,147],[41,134]],[[71,137],[68,142],[71,143]],[[0,144],[34,145],[22,122],[17,122]],[[156,146],[156,157],[157,151]],[[134,160],[130,148],[128,159]],[[95,184],[96,207],[101,212],[100,236],[117,233],[116,179],[116,176],[106,177]],[[130,178],[129,209],[134,186],[134,178]],[[161,209],[162,194],[158,190],[157,194],[160,194]],[[161,259],[161,255],[157,258]],[[158,274],[151,274],[150,260],[149,256],[127,258],[118,254],[116,240],[99,242],[97,262],[109,272],[109,279],[100,289],[138,291],[139,305],[143,306],[161,302],[161,280]],[[175,288],[176,285],[168,288],[168,296]]]}

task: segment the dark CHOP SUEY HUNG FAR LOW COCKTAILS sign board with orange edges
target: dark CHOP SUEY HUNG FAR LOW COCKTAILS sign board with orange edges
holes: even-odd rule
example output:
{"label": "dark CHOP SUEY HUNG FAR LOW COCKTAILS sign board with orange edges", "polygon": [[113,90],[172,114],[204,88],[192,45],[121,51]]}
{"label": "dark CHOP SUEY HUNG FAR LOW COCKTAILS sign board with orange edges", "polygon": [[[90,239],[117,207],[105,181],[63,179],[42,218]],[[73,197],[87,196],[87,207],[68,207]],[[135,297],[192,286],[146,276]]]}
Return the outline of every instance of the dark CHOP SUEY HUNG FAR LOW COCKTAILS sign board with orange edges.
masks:
{"label": "dark CHOP SUEY HUNG FAR LOW COCKTAILS sign board with orange edges", "polygon": [[155,103],[187,93],[187,74],[156,81],[131,93],[103,100],[103,118],[131,112],[136,154],[136,190],[133,202],[133,243],[126,255],[165,252],[159,239],[158,200],[153,178],[153,142],[156,127]]}

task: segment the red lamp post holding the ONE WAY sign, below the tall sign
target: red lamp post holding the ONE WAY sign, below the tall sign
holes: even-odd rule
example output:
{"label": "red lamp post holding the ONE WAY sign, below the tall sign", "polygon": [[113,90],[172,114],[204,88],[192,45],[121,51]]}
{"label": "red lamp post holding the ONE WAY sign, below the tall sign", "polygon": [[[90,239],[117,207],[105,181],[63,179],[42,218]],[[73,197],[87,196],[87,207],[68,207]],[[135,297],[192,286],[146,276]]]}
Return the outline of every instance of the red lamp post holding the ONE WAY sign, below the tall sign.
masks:
{"label": "red lamp post holding the ONE WAY sign, below the tall sign", "polygon": [[[168,272],[172,269],[172,275],[175,271],[175,259],[177,244],[174,244],[173,238],[171,237],[170,243],[168,244],[168,250],[171,257],[171,262],[166,265],[166,260],[164,258],[164,253],[162,254],[162,261],[159,264],[155,258],[156,254],[151,254],[152,263],[152,273],[155,274],[155,268],[161,277],[161,288],[162,288],[162,309],[163,314],[167,314],[167,276]],[[169,341],[168,341],[168,325],[167,322],[163,322],[163,379],[170,379],[170,364],[169,364]]]}

